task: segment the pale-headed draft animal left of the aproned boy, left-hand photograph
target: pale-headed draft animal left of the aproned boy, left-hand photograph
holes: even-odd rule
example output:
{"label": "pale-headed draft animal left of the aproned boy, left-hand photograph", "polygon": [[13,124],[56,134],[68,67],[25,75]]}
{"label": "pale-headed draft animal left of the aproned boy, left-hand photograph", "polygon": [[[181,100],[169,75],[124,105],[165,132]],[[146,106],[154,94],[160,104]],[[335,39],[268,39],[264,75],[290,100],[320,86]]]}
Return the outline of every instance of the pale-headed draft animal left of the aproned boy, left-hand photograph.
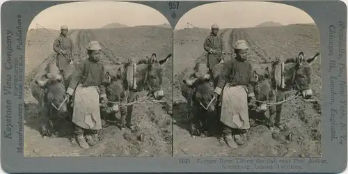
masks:
{"label": "pale-headed draft animal left of the aproned boy, left-hand photograph", "polygon": [[63,79],[68,79],[74,68],[73,64],[69,65],[63,74],[54,63],[49,63],[31,82],[31,93],[40,106],[39,132],[43,138],[52,136],[57,126],[55,123],[69,119],[72,113],[65,102],[68,80]]}

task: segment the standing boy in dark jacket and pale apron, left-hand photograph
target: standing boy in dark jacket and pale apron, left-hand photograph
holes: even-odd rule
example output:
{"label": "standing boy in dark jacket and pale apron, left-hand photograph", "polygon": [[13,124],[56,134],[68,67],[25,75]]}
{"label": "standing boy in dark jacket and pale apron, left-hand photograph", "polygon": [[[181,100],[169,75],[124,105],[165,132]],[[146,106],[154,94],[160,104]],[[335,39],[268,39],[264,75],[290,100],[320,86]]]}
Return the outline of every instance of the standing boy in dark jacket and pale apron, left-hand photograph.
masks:
{"label": "standing boy in dark jacket and pale apron, left-hand photograph", "polygon": [[[95,145],[97,130],[102,129],[100,118],[100,100],[107,102],[105,94],[104,65],[100,63],[101,47],[99,42],[89,43],[88,58],[77,65],[68,87],[67,99],[74,94],[75,136],[81,148]],[[99,97],[98,97],[99,96]],[[86,140],[84,139],[86,134]]]}

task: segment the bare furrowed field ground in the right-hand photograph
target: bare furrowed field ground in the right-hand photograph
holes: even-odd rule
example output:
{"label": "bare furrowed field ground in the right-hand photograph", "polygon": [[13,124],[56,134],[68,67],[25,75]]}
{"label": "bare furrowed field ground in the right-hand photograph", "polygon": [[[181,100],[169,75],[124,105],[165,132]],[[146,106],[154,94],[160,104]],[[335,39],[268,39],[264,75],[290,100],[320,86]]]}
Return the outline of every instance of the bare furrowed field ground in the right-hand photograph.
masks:
{"label": "bare furrowed field ground in the right-hand photograph", "polygon": [[[253,61],[274,60],[275,56],[290,58],[303,52],[313,56],[319,52],[319,32],[313,26],[290,25],[248,29],[221,30],[226,47],[237,39],[251,45]],[[197,137],[189,134],[187,102],[180,94],[182,79],[193,72],[197,61],[205,61],[203,42],[209,30],[180,30],[174,33],[174,105],[173,155],[181,157],[320,157],[322,103],[311,104],[295,100],[283,104],[282,120],[285,131],[272,134],[264,125],[254,124],[248,130],[248,142],[235,150],[216,137]],[[308,58],[307,57],[307,58]],[[321,94],[321,61],[313,64],[312,89],[317,100]],[[253,122],[253,120],[251,120]]]}

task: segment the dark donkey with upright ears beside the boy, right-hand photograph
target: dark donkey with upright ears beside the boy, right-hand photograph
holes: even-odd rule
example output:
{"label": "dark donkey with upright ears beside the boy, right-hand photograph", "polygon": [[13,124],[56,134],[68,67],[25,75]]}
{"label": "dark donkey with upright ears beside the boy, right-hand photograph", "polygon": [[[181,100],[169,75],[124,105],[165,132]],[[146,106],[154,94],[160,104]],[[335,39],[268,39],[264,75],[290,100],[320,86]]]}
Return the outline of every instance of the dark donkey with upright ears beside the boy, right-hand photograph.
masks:
{"label": "dark donkey with upright ears beside the boy, right-hand photograph", "polygon": [[[270,74],[269,83],[271,92],[276,99],[272,99],[276,104],[272,104],[270,113],[270,129],[273,131],[276,127],[283,129],[280,123],[282,111],[282,101],[285,100],[285,95],[288,95],[292,90],[296,91],[296,95],[301,95],[303,99],[310,99],[313,95],[311,89],[313,70],[310,65],[316,60],[319,53],[308,58],[304,57],[303,52],[300,52],[295,58],[288,58],[284,61],[284,70],[280,70],[279,63],[260,63],[258,66],[263,66],[265,72]],[[271,71],[269,71],[271,69]],[[281,78],[276,78],[277,74],[283,74]],[[280,81],[283,81],[281,82]],[[274,108],[275,107],[275,108]],[[274,113],[275,111],[275,113]]]}

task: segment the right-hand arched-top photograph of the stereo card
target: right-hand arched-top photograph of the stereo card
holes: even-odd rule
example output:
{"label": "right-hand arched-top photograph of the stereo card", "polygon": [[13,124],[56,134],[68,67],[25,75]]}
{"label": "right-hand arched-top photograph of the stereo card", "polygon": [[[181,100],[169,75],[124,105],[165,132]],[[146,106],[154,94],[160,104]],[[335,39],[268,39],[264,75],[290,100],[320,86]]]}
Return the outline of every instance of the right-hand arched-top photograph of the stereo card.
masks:
{"label": "right-hand arched-top photograph of the stereo card", "polygon": [[319,38],[282,3],[189,10],[174,31],[173,156],[321,157]]}

